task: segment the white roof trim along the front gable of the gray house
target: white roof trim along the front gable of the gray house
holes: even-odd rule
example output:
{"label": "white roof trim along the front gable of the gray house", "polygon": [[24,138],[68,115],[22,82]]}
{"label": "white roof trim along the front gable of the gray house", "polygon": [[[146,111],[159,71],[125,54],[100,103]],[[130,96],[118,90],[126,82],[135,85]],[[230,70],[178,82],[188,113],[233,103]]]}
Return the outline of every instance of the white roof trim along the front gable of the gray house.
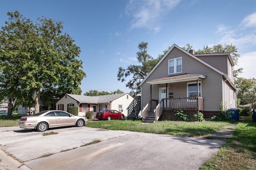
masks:
{"label": "white roof trim along the front gable of the gray house", "polygon": [[[198,57],[196,57],[195,55],[189,53],[188,51],[182,49],[181,47],[179,47],[178,45],[176,45],[175,43],[172,45],[172,47],[170,47],[170,49],[167,51],[167,53],[164,55],[164,57],[162,57],[162,59],[155,65],[155,67],[148,73],[148,75],[142,80],[142,82],[140,83],[140,86],[145,83],[145,81],[148,79],[148,77],[155,71],[155,69],[164,61],[164,59],[166,58],[166,56],[169,55],[169,53],[174,49],[174,47],[178,48],[179,50],[181,50],[182,52],[186,53],[187,55],[189,55],[190,57],[196,59],[197,61],[203,63],[204,65],[210,67],[211,69],[213,69],[214,71],[220,73],[221,75],[223,75],[224,77],[226,77],[225,73],[223,73],[222,71],[216,69],[215,67],[213,67],[212,65],[206,63],[205,61],[199,59]],[[216,54],[214,54],[216,55]],[[230,54],[222,54],[222,55],[230,55]]]}

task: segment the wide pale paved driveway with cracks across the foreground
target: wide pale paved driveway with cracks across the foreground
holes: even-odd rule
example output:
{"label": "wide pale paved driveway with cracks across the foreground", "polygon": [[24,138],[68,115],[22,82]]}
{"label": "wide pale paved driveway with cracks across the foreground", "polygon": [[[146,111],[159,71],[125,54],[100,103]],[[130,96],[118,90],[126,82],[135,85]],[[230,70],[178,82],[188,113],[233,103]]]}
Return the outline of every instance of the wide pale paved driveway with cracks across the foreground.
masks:
{"label": "wide pale paved driveway with cracks across the foreground", "polygon": [[[88,127],[46,132],[52,131],[58,134],[42,136],[44,132],[0,128],[0,148],[24,162],[22,168],[32,170],[198,170],[224,144],[220,140]],[[82,146],[93,140],[101,142]],[[8,169],[0,162],[0,169],[4,168]]]}

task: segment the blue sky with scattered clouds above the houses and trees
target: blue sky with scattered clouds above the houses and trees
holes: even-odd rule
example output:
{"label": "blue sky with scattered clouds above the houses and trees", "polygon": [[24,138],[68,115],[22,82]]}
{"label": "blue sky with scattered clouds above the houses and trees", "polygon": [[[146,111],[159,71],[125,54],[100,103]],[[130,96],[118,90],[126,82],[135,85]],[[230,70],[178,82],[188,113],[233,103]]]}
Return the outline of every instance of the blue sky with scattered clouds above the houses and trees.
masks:
{"label": "blue sky with scattered clouds above the houses and trees", "polygon": [[232,43],[244,68],[239,76],[256,77],[256,0],[3,0],[0,26],[14,10],[33,21],[44,16],[64,22],[63,32],[82,50],[82,94],[129,93],[129,79],[117,80],[118,67],[138,65],[140,42],[148,42],[154,58],[174,43],[195,50]]}

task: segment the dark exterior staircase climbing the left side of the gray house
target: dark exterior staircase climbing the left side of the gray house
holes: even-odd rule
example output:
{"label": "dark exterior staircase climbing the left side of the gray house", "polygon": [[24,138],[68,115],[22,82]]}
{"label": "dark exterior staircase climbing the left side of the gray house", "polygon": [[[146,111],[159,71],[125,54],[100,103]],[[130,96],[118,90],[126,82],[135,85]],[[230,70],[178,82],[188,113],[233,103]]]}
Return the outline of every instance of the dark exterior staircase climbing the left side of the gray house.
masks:
{"label": "dark exterior staircase climbing the left side of the gray house", "polygon": [[138,117],[140,113],[140,104],[141,104],[141,95],[138,94],[136,97],[133,99],[132,103],[128,106],[128,117],[126,118],[127,120],[133,120]]}

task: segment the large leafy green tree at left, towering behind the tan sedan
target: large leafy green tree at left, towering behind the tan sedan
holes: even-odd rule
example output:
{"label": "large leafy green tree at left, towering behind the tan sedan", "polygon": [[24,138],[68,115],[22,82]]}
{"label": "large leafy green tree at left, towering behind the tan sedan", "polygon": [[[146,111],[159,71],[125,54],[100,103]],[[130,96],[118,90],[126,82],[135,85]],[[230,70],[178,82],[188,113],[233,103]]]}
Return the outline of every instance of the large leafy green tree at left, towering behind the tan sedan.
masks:
{"label": "large leafy green tree at left, towering behind the tan sedan", "polygon": [[0,89],[9,99],[8,115],[17,99],[34,103],[38,112],[42,93],[81,94],[79,85],[86,74],[77,59],[80,47],[62,33],[63,23],[47,18],[34,23],[18,11],[7,15],[0,30]]}

